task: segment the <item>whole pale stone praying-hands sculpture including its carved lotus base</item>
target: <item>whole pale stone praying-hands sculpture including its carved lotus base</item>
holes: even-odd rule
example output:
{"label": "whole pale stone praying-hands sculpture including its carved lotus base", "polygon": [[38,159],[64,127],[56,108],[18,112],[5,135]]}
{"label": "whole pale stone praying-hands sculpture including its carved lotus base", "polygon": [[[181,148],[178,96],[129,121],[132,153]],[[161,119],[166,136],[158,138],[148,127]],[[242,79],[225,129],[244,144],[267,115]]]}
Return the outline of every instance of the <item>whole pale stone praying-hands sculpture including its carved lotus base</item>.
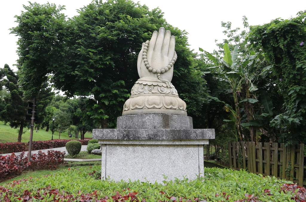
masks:
{"label": "whole pale stone praying-hands sculpture including its carved lotus base", "polygon": [[142,44],[138,55],[138,79],[125,101],[122,116],[136,114],[175,114],[187,116],[186,103],[172,85],[175,37],[163,27]]}

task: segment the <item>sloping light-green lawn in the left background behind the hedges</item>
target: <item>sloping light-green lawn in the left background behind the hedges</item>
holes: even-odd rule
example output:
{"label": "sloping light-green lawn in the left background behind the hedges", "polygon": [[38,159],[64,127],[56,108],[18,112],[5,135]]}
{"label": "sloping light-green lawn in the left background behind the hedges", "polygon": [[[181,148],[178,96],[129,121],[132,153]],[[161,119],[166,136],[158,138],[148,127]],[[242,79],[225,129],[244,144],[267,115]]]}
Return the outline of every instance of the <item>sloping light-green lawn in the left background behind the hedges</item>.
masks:
{"label": "sloping light-green lawn in the left background behind the hedges", "polygon": [[[25,128],[28,129],[28,128]],[[59,132],[54,131],[53,139],[58,139]],[[38,140],[50,140],[52,138],[52,128],[49,129],[48,132],[45,129],[40,129],[38,133],[34,130],[33,132],[33,141]],[[79,134],[80,138],[80,134]],[[92,138],[92,133],[86,132],[85,139]],[[0,121],[0,142],[17,142],[18,132],[17,129],[11,128],[9,124],[4,124]],[[21,142],[28,142],[30,139],[30,130],[27,130],[24,134],[22,134]],[[75,137],[69,137],[67,132],[61,133],[60,139],[75,139]]]}

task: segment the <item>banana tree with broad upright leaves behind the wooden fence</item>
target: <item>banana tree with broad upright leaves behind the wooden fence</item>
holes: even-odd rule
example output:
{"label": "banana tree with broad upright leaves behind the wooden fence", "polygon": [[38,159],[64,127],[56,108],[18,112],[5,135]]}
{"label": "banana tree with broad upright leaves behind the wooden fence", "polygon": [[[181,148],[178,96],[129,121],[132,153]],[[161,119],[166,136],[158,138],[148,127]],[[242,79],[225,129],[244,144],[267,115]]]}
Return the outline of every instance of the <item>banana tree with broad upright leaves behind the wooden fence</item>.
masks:
{"label": "banana tree with broad upright leaves behind the wooden fence", "polygon": [[[256,141],[256,135],[259,134],[256,131],[259,131],[259,127],[262,124],[255,119],[253,104],[258,102],[258,100],[254,92],[258,89],[253,84],[253,80],[256,78],[256,69],[262,65],[263,57],[251,51],[244,59],[238,58],[238,47],[236,46],[231,53],[227,43],[224,44],[223,49],[225,53],[223,60],[214,57],[206,51],[205,54],[216,65],[208,69],[217,75],[218,79],[228,82],[230,85],[229,92],[233,95],[235,106],[224,106],[224,109],[230,112],[230,120],[225,121],[232,121],[234,123],[234,135],[236,137],[239,136],[240,140],[244,139],[241,127],[248,127],[251,141]],[[203,49],[200,49],[200,51],[203,51]],[[216,97],[211,98],[219,101]],[[247,123],[241,123],[241,106],[243,106],[246,114]]]}

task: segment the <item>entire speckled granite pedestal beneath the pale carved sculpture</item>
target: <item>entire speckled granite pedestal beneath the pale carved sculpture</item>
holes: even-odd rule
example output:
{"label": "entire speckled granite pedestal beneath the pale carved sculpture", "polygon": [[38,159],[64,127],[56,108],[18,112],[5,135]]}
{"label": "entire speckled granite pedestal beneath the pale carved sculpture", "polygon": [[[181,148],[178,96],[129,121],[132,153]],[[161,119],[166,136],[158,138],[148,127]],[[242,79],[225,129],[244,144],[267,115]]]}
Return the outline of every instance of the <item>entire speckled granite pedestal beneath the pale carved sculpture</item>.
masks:
{"label": "entire speckled granite pedestal beneath the pale carved sculpture", "polygon": [[102,149],[102,178],[162,183],[193,180],[204,171],[203,145],[214,129],[193,129],[192,118],[181,115],[120,116],[117,129],[94,129]]}

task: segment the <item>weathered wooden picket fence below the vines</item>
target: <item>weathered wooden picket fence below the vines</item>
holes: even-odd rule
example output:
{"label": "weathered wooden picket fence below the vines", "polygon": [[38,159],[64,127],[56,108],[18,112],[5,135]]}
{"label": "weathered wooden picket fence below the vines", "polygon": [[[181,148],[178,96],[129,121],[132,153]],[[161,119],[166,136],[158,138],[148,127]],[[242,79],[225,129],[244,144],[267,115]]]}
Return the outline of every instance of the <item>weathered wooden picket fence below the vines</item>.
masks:
{"label": "weathered wooden picket fence below the vines", "polygon": [[275,176],[306,186],[304,144],[229,142],[230,167]]}

